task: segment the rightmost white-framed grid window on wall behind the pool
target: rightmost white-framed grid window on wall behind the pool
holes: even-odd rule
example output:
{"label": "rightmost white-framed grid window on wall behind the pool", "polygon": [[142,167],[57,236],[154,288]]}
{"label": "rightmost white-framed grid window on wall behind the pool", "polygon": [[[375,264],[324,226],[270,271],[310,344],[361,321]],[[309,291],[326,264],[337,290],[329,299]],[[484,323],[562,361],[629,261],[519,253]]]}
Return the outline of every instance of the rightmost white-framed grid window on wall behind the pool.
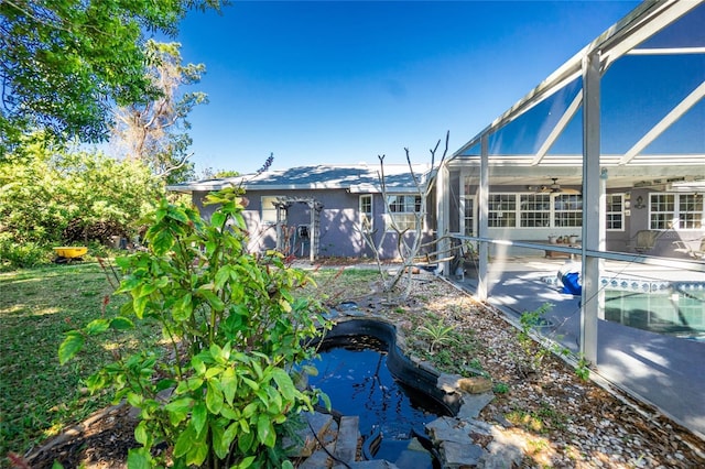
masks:
{"label": "rightmost white-framed grid window on wall behind the pool", "polygon": [[649,195],[649,228],[652,230],[701,229],[704,217],[699,194]]}

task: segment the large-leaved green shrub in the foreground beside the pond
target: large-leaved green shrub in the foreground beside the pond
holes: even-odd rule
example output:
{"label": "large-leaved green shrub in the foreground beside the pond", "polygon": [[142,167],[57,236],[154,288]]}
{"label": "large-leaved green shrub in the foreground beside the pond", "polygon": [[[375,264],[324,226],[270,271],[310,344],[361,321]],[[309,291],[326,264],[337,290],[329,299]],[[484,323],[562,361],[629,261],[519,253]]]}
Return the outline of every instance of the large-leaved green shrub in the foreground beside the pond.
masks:
{"label": "large-leaved green shrub in the foreground beside the pond", "polygon": [[[162,201],[150,218],[149,252],[118,262],[126,275],[117,294],[130,295],[120,316],[68,332],[59,360],[91,335],[156,319],[166,352],[116,351],[88,380],[90,390],[113,386],[141,410],[134,436],[142,447],[129,466],[292,467],[281,436],[317,399],[294,385],[292,368],[315,353],[308,343],[326,323],[317,302],[294,296],[312,282],[304,272],[276,252],[246,251],[240,192],[208,203],[220,206],[210,222]],[[169,450],[155,456],[158,445]]]}

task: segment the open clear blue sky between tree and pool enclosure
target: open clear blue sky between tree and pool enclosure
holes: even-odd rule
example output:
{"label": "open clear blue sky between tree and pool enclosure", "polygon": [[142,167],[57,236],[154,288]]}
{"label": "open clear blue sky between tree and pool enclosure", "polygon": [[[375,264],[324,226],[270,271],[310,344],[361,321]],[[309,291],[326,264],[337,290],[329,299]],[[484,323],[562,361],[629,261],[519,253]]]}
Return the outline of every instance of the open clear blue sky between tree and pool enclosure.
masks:
{"label": "open clear blue sky between tree and pool enclosure", "polygon": [[634,1],[236,1],[176,39],[205,63],[196,171],[430,161],[457,150]]}

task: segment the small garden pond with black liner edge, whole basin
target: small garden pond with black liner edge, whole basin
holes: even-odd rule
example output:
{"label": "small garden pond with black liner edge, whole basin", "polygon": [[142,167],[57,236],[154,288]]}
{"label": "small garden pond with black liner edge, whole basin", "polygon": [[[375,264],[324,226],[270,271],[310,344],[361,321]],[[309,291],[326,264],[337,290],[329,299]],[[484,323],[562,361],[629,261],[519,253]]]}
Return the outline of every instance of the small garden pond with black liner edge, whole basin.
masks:
{"label": "small garden pond with black liner edge, whole basin", "polygon": [[[321,358],[311,362],[318,375],[308,383],[330,397],[335,412],[359,417],[371,456],[394,462],[414,436],[425,436],[425,424],[453,413],[452,403],[438,399],[435,375],[404,363],[408,359],[384,329],[391,326],[346,321],[343,334],[339,326],[322,343]],[[432,468],[433,461],[415,460],[413,467]]]}

